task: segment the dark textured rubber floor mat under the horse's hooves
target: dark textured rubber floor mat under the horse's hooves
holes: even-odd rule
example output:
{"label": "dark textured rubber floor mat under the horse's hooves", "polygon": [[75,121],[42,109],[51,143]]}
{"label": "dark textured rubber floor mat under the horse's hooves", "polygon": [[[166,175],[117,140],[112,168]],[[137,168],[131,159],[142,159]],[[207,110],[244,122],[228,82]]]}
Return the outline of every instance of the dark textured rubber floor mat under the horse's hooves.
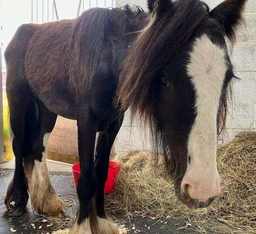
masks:
{"label": "dark textured rubber floor mat under the horse's hooves", "polygon": [[[9,218],[6,217],[6,207],[4,198],[7,187],[13,176],[14,170],[0,169],[0,234],[12,233],[10,228],[17,230],[15,234],[46,234],[53,231],[49,221],[43,222],[43,218],[32,211],[31,203],[28,202],[27,211],[22,217]],[[72,173],[49,173],[51,183],[60,197],[68,203],[68,213],[77,212],[77,194],[74,187]],[[130,231],[128,233],[147,233],[147,234],[197,234],[202,233],[186,226],[185,222],[177,220],[152,220],[149,218],[137,218],[127,220],[120,214],[109,214],[113,220],[118,220],[120,225],[125,225]],[[65,218],[65,217],[64,217]],[[47,218],[46,218],[47,219]],[[45,220],[44,220],[45,221]],[[50,225],[47,227],[47,225]],[[42,226],[40,229],[39,227]],[[133,230],[133,227],[135,230]],[[150,227],[150,229],[148,229]],[[62,229],[68,228],[63,226]],[[204,232],[212,234],[213,232]],[[224,232],[223,232],[224,233]]]}

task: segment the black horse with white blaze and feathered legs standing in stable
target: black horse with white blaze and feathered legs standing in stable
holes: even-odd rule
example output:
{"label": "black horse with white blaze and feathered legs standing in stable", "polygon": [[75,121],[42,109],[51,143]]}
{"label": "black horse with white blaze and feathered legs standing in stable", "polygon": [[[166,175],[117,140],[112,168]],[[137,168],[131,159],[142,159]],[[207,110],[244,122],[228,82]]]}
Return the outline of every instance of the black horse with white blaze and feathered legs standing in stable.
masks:
{"label": "black horse with white blaze and feathered legs standing in stable", "polygon": [[4,54],[15,155],[9,216],[24,213],[29,195],[38,213],[63,213],[46,166],[60,115],[78,127],[79,209],[70,233],[118,234],[104,186],[128,108],[150,129],[154,153],[167,168],[174,162],[177,198],[190,209],[209,206],[220,192],[216,141],[235,78],[227,43],[235,43],[245,3],[225,0],[210,11],[199,0],[148,0],[148,12],[91,8],[74,20],[21,25]]}

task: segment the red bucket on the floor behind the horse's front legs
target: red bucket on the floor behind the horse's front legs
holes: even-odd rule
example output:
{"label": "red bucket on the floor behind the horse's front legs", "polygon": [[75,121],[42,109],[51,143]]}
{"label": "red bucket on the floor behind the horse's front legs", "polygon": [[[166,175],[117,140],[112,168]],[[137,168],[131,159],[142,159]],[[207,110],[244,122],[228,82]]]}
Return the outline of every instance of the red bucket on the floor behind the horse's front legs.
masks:
{"label": "red bucket on the floor behind the horse's front legs", "polygon": [[[75,185],[77,187],[77,181],[78,181],[78,177],[80,175],[79,162],[72,166],[72,171],[73,171],[73,175],[74,175]],[[116,177],[117,177],[118,172],[119,172],[119,163],[115,162],[115,161],[110,161],[109,167],[108,167],[108,179],[106,181],[105,189],[104,189],[105,194],[112,192],[114,190],[114,188],[116,187]]]}

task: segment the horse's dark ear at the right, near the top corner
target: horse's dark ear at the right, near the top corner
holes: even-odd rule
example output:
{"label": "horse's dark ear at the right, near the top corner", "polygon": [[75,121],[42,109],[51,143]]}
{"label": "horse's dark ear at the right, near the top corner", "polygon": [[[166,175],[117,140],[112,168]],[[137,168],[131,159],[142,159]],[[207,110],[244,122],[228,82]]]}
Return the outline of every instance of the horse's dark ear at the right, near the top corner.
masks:
{"label": "horse's dark ear at the right, near the top corner", "polygon": [[226,0],[210,11],[210,17],[224,26],[230,39],[234,37],[236,26],[243,20],[242,13],[246,2],[247,0]]}

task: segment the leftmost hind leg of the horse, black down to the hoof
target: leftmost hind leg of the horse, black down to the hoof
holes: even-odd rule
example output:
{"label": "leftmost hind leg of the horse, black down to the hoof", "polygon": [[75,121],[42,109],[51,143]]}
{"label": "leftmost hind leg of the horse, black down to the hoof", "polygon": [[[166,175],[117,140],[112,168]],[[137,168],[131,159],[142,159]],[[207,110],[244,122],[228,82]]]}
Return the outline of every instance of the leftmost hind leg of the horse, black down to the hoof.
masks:
{"label": "leftmost hind leg of the horse, black down to the hoof", "polygon": [[[6,93],[9,102],[10,125],[14,138],[12,149],[15,155],[14,177],[9,184],[5,204],[10,217],[20,216],[28,202],[28,183],[24,173],[23,160],[28,152],[25,136],[25,115],[30,108],[31,93],[28,86],[9,70],[7,75]],[[16,78],[16,79],[15,79]],[[11,82],[15,79],[15,83]]]}

